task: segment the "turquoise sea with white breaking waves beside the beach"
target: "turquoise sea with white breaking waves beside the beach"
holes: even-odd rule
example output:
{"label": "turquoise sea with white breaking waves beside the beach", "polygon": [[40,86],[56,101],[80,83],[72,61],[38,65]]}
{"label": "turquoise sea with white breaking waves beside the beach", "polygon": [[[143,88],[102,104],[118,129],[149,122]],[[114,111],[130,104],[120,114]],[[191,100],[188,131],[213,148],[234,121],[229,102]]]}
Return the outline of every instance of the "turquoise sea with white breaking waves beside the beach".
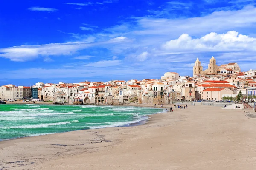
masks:
{"label": "turquoise sea with white breaking waves beside the beach", "polygon": [[0,105],[0,140],[73,130],[127,126],[159,108],[94,105]]}

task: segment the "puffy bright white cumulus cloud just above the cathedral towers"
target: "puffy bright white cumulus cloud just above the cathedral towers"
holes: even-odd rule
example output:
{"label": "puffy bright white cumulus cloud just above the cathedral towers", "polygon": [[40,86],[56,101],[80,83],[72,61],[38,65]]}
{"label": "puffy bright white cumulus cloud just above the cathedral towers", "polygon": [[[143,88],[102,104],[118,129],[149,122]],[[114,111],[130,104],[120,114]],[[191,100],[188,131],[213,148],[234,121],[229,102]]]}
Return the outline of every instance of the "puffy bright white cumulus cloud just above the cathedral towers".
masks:
{"label": "puffy bright white cumulus cloud just above the cathedral towers", "polygon": [[182,51],[256,51],[256,39],[228,31],[226,34],[212,32],[204,37],[192,39],[188,34],[182,34],[178,39],[163,44],[163,49],[173,52]]}

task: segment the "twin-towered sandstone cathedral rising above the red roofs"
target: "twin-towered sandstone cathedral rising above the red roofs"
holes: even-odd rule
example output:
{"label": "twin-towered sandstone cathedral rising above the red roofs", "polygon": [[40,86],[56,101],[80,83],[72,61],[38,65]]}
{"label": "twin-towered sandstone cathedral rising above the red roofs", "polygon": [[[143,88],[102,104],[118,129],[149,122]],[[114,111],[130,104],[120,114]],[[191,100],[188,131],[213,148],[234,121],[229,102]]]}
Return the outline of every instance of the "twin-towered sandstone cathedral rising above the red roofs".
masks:
{"label": "twin-towered sandstone cathedral rising above the red roofs", "polygon": [[[233,72],[241,72],[241,69],[239,65],[236,62],[223,64],[221,66],[218,66],[216,64],[216,59],[212,56],[210,59],[210,62],[208,64],[208,69],[203,70],[203,66],[201,66],[201,62],[197,58],[195,61],[195,66],[193,67],[193,77],[195,75],[206,75],[206,74],[218,74],[218,73],[228,73],[228,71]],[[233,73],[232,72],[232,73]]]}

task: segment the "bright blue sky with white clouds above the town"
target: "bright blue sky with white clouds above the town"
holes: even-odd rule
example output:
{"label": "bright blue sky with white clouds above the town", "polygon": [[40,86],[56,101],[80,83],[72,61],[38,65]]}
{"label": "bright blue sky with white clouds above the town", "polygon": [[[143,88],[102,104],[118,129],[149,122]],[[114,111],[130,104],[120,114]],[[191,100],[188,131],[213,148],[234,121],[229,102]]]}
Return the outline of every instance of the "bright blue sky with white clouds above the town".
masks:
{"label": "bright blue sky with white clouds above the town", "polygon": [[256,69],[256,0],[44,0],[0,6],[0,85]]}

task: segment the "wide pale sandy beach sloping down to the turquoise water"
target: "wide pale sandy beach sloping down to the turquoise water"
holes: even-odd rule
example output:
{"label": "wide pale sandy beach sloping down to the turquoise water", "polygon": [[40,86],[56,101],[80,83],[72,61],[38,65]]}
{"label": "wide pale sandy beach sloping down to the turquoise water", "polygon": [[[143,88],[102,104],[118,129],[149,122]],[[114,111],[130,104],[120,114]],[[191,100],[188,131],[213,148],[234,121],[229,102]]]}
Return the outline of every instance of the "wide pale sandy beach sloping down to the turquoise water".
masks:
{"label": "wide pale sandy beach sloping down to the turquoise water", "polygon": [[145,125],[0,142],[0,170],[253,170],[256,119],[188,106]]}

